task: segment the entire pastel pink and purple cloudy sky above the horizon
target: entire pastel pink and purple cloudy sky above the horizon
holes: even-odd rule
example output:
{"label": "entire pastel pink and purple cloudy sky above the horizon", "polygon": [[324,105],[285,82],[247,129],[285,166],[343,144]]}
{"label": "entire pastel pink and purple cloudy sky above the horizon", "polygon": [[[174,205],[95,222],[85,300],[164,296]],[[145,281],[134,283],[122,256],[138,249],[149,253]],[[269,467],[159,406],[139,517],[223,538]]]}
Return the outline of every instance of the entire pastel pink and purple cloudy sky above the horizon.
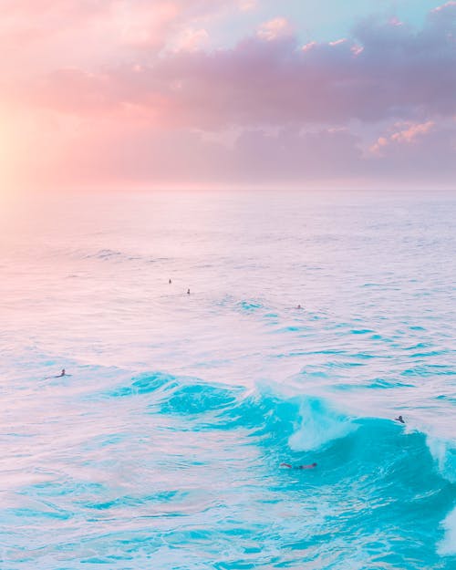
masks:
{"label": "entire pastel pink and purple cloudy sky above the horizon", "polygon": [[454,188],[456,1],[2,0],[0,192]]}

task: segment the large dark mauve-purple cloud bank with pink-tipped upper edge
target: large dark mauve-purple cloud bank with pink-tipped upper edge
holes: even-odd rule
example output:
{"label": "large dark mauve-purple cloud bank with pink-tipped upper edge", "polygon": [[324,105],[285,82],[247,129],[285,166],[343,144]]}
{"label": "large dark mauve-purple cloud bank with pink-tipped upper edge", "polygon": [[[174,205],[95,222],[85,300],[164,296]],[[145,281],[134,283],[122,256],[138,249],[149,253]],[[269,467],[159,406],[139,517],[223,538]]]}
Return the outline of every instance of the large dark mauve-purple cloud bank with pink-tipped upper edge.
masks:
{"label": "large dark mauve-purple cloud bank with pink-tipped upper edge", "polygon": [[117,65],[104,70],[103,81],[93,74],[77,84],[72,74],[54,73],[40,102],[67,109],[71,91],[73,111],[78,112],[79,100],[79,111],[87,112],[88,93],[94,109],[99,101],[147,109],[167,100],[162,112],[170,115],[163,121],[175,124],[179,118],[182,126],[196,129],[451,116],[456,113],[455,27],[451,4],[430,13],[418,32],[369,20],[350,38],[303,49],[290,36],[287,21],[277,18],[258,36],[213,52],[198,49],[205,30],[188,29],[181,51],[149,57],[136,67],[140,73]]}

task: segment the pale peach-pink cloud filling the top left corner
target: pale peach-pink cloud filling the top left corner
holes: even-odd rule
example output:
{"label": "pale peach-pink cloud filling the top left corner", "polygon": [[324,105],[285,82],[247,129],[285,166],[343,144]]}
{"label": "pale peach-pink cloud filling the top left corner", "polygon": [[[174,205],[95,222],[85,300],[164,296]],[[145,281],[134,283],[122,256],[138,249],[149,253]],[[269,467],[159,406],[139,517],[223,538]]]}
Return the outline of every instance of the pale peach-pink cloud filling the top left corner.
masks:
{"label": "pale peach-pink cloud filling the top left corner", "polygon": [[[96,71],[150,60],[188,29],[245,13],[244,0],[2,0],[2,76]],[[137,63],[144,63],[139,61]]]}

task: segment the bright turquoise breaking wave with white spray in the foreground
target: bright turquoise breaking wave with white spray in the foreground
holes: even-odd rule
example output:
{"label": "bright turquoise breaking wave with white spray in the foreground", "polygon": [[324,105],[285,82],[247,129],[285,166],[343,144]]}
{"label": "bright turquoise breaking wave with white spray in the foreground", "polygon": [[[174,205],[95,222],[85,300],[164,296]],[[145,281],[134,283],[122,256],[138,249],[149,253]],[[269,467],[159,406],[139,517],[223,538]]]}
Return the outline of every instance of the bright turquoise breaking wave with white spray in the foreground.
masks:
{"label": "bright turquoise breaking wave with white spray in the foreground", "polygon": [[[429,542],[429,555],[456,554],[452,441],[394,420],[350,416],[327,399],[285,398],[270,388],[248,390],[161,372],[140,375],[97,398],[140,399],[144,413],[171,418],[177,430],[209,443],[238,430],[233,440],[247,438],[260,451],[270,489],[278,485],[293,493],[296,484],[304,485],[323,502],[335,502],[337,507],[328,508],[336,509],[335,523],[344,532],[375,531],[389,541],[388,529],[400,521],[404,536],[416,532],[421,544]],[[314,461],[311,472],[279,467]]]}

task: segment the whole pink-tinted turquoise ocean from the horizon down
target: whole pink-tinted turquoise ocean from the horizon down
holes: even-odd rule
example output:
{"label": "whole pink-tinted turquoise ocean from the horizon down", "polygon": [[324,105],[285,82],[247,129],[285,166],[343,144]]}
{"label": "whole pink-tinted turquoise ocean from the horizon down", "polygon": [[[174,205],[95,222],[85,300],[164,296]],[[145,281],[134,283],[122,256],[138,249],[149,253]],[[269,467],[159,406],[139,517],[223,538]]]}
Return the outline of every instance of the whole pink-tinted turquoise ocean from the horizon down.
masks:
{"label": "whole pink-tinted turquoise ocean from the horizon down", "polygon": [[455,194],[0,208],[2,570],[456,568]]}

